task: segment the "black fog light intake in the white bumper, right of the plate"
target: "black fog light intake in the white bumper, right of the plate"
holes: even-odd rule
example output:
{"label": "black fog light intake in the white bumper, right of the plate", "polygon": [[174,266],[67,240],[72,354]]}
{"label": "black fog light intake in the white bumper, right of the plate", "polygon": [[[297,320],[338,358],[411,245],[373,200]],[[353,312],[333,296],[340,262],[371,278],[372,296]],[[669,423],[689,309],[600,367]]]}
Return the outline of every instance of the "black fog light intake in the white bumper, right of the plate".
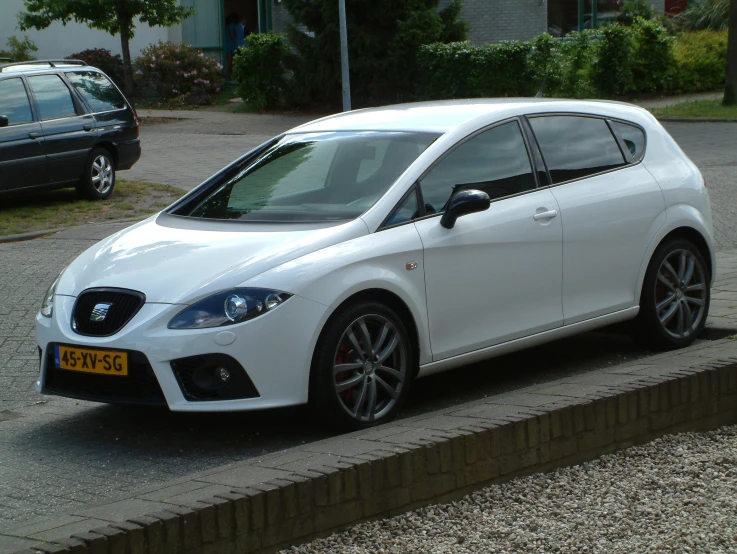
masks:
{"label": "black fog light intake in the white bumper, right of the plate", "polygon": [[[193,401],[258,398],[259,392],[237,360],[227,354],[202,354],[171,361],[184,398]],[[220,378],[225,369],[228,380]]]}

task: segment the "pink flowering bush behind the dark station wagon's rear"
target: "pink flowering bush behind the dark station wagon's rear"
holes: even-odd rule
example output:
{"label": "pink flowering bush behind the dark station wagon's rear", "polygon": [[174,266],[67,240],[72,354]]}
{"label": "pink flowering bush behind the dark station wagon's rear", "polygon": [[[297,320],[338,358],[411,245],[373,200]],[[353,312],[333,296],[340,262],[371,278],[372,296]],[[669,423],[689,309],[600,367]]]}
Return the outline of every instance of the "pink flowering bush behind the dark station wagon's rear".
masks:
{"label": "pink flowering bush behind the dark station wagon's rear", "polygon": [[152,86],[162,99],[193,89],[207,94],[220,91],[225,81],[222,66],[188,44],[161,42],[142,51],[136,60],[136,81]]}

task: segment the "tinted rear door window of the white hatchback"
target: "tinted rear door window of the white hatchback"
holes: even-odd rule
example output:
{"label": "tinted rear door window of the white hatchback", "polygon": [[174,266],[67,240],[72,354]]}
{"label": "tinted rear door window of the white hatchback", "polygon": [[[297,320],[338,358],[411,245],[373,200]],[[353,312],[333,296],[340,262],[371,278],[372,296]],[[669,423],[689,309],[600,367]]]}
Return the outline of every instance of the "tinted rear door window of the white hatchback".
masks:
{"label": "tinted rear door window of the white hatchback", "polygon": [[617,140],[603,119],[578,116],[530,118],[553,184],[624,165]]}

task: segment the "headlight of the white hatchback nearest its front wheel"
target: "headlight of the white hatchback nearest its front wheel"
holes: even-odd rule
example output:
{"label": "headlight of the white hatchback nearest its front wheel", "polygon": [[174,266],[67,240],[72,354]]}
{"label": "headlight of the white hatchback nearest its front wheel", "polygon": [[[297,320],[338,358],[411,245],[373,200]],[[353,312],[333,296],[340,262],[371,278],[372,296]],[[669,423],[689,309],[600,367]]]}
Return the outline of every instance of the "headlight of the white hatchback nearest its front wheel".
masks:
{"label": "headlight of the white hatchback nearest its front wheel", "polygon": [[169,329],[235,325],[276,309],[292,295],[269,289],[232,289],[195,302],[169,322]]}

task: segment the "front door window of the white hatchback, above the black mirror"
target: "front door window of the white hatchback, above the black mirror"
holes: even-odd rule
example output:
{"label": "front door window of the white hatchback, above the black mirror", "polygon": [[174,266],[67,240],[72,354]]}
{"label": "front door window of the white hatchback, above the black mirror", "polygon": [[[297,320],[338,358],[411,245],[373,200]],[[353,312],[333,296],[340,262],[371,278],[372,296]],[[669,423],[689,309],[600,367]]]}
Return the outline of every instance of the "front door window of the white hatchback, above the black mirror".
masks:
{"label": "front door window of the white hatchback, above the black mirror", "polygon": [[496,200],[534,188],[530,158],[516,121],[467,140],[422,179],[428,213],[442,211],[458,190],[482,190]]}

